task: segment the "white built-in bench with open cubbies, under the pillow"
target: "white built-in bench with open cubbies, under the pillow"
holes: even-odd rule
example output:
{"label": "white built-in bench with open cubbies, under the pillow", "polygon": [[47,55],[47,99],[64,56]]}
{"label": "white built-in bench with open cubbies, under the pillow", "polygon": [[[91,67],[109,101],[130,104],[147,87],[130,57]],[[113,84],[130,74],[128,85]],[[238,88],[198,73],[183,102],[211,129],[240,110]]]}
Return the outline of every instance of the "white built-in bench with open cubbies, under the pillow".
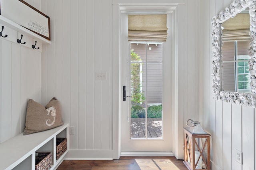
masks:
{"label": "white built-in bench with open cubbies, under the pillow", "polygon": [[37,152],[52,152],[52,168],[56,169],[63,161],[66,152],[56,160],[56,137],[68,139],[68,123],[54,129],[32,133],[19,134],[0,143],[0,170],[34,170]]}

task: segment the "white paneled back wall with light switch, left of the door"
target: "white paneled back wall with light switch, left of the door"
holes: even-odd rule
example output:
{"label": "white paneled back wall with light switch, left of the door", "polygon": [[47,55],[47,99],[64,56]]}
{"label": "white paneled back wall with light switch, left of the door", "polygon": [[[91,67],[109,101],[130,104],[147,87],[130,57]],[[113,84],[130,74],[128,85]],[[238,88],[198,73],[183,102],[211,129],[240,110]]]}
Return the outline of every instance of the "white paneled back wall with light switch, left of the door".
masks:
{"label": "white paneled back wall with light switch, left of the door", "polygon": [[[51,47],[42,53],[42,102],[56,96],[63,121],[74,126],[68,157],[112,157],[110,114],[111,0],[47,0]],[[107,80],[96,80],[105,72]],[[74,152],[72,152],[74,150]],[[100,152],[101,153],[101,152]]]}

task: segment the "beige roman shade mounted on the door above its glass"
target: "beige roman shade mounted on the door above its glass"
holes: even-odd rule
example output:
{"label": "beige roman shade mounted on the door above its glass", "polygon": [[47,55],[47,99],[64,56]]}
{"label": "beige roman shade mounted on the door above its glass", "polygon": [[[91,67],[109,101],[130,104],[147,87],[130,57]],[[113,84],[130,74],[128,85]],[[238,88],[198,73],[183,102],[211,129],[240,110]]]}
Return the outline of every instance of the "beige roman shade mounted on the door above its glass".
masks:
{"label": "beige roman shade mounted on the door above its glass", "polygon": [[128,41],[166,41],[167,15],[128,15]]}

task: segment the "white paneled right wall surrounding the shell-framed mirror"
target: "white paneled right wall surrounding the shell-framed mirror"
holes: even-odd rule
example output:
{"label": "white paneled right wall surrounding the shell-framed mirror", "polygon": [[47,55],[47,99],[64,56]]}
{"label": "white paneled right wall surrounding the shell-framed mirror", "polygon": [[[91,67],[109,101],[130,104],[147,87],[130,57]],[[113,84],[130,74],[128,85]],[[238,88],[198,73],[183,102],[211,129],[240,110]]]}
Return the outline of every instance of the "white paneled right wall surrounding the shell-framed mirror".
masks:
{"label": "white paneled right wall surrounding the shell-framed mirror", "polygon": [[[201,1],[204,32],[204,111],[201,119],[211,136],[212,170],[255,170],[255,109],[212,99],[212,28],[211,18],[232,0]],[[236,149],[242,152],[243,164],[236,162]]]}

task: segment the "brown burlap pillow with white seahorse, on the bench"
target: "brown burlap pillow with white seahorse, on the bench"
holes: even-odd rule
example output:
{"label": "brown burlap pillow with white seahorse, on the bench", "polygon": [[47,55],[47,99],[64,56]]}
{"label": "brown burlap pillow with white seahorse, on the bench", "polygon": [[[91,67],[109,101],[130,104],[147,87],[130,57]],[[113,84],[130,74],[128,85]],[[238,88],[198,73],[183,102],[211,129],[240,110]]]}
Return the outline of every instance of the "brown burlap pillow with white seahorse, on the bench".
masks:
{"label": "brown burlap pillow with white seahorse, on the bench", "polygon": [[45,107],[32,99],[28,100],[23,135],[45,131],[63,124],[60,103],[56,98],[52,98]]}

